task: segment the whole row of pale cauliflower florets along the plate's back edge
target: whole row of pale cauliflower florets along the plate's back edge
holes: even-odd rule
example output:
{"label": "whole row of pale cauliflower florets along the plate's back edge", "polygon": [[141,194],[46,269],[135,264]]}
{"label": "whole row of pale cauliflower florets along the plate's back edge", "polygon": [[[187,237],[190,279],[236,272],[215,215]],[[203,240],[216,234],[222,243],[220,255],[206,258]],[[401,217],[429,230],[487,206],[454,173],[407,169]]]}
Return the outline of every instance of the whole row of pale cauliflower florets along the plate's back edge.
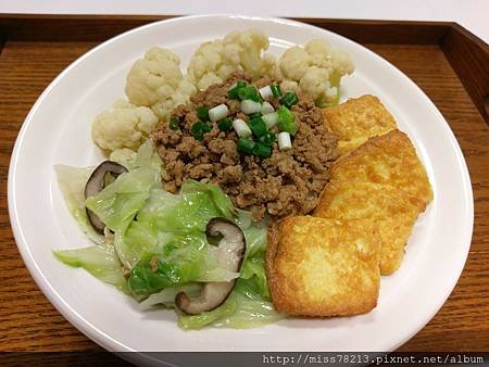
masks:
{"label": "whole row of pale cauliflower florets along the plate's back edge", "polygon": [[274,55],[264,53],[268,46],[268,37],[261,30],[231,31],[202,43],[190,59],[186,76],[174,52],[149,49],[127,75],[128,101],[117,100],[95,118],[93,141],[114,161],[131,162],[159,121],[167,121],[171,111],[188,103],[197,89],[223,83],[236,71],[249,72],[254,79],[277,78],[283,92],[305,91],[318,106],[338,102],[340,78],[354,69],[347,53],[314,39],[303,48],[288,49],[276,62]]}

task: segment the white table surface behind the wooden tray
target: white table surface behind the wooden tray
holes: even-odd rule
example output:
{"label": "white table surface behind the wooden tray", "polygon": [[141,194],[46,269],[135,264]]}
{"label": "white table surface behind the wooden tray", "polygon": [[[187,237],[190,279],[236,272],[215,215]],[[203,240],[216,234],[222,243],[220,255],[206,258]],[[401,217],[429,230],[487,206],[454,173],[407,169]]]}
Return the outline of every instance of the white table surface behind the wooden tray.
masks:
{"label": "white table surface behind the wooden tray", "polygon": [[0,13],[210,14],[450,21],[489,43],[488,0],[0,0]]}

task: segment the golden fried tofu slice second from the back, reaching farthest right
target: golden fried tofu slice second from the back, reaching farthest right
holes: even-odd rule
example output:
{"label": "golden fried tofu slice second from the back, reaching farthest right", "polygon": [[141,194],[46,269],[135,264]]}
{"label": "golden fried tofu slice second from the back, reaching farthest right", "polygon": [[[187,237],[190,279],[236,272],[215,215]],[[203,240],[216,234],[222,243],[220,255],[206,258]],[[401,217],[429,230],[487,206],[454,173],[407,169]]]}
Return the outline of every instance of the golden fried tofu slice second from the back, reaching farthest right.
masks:
{"label": "golden fried tofu slice second from the back, reaching farthest right", "polygon": [[363,145],[340,156],[331,166],[333,180],[390,185],[423,203],[432,200],[425,167],[410,138],[399,130],[367,140]]}

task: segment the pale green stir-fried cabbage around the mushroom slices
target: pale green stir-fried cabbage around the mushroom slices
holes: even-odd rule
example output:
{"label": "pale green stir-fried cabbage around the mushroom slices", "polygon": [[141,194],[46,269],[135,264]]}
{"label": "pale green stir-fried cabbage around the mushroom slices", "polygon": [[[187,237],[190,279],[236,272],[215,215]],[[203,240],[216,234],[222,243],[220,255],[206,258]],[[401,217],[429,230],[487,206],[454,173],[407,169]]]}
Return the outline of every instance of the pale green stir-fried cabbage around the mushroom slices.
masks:
{"label": "pale green stir-fried cabbage around the mushroom slices", "polygon": [[[141,308],[175,307],[179,291],[198,294],[202,282],[238,278],[217,308],[196,316],[177,309],[183,329],[250,328],[284,317],[269,302],[265,226],[252,225],[250,213],[236,210],[215,185],[187,180],[178,194],[164,191],[161,160],[151,142],[141,145],[136,160],[126,166],[128,173],[87,200],[84,188],[92,169],[55,167],[68,208],[95,242],[85,249],[55,251],[60,261],[142,301]],[[86,207],[105,224],[105,237],[91,228]],[[211,251],[205,228],[214,217],[235,222],[244,233],[247,251],[240,273],[223,268]]]}

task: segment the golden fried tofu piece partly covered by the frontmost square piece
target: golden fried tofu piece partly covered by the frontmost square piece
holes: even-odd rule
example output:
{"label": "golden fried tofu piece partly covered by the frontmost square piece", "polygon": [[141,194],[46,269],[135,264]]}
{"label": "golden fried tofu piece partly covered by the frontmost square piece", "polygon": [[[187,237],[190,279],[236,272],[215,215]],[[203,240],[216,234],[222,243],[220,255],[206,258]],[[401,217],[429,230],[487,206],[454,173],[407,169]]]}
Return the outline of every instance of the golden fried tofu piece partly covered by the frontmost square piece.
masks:
{"label": "golden fried tofu piece partly covered by the frontmost square piece", "polygon": [[422,201],[388,185],[330,181],[314,215],[349,222],[364,219],[377,225],[381,239],[380,274],[390,275],[401,265],[404,245],[424,211]]}

